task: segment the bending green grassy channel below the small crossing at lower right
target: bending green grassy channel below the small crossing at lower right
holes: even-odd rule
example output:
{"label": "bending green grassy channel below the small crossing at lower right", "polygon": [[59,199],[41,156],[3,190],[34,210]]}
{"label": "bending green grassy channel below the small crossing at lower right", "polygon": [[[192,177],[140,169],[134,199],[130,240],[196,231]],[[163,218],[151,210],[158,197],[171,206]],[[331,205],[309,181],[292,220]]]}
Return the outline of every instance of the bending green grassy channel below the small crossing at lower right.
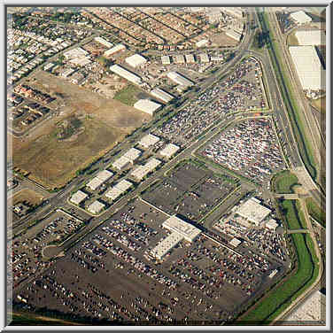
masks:
{"label": "bending green grassy channel below the small crossing at lower right", "polygon": [[296,273],[275,288],[254,310],[236,321],[237,325],[268,324],[314,283],[319,274],[319,265],[310,236],[293,234],[291,238],[297,252]]}

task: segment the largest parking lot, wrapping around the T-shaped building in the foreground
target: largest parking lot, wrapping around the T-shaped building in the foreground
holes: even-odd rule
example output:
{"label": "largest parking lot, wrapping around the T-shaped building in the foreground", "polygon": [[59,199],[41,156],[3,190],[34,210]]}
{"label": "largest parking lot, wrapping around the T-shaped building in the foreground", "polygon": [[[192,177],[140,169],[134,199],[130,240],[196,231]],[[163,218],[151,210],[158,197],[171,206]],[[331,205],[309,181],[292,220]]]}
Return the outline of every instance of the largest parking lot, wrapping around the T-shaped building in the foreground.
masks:
{"label": "largest parking lot, wrapping around the T-shaped building in the foreground", "polygon": [[233,251],[204,234],[182,241],[162,263],[148,259],[145,253],[167,236],[166,220],[136,199],[19,290],[15,302],[73,318],[210,324],[231,320],[281,267],[252,244]]}

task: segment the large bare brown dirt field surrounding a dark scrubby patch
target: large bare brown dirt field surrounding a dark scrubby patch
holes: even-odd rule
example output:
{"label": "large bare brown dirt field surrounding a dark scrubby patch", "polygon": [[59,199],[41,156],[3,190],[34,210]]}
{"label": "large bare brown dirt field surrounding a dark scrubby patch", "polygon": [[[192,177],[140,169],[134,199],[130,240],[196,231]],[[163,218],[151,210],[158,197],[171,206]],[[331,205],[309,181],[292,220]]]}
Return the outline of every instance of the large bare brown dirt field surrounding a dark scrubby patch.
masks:
{"label": "large bare brown dirt field surrounding a dark scrubby patch", "polygon": [[[51,74],[36,74],[31,81],[35,88],[48,87],[60,94],[63,102],[58,116],[46,121],[29,136],[8,137],[7,156],[13,166],[30,172],[31,179],[49,188],[61,187],[78,168],[89,165],[97,156],[112,149],[128,133],[151,117],[119,101],[101,97],[97,93],[75,86]],[[72,114],[84,118],[84,131],[73,140],[58,141],[57,124]]]}

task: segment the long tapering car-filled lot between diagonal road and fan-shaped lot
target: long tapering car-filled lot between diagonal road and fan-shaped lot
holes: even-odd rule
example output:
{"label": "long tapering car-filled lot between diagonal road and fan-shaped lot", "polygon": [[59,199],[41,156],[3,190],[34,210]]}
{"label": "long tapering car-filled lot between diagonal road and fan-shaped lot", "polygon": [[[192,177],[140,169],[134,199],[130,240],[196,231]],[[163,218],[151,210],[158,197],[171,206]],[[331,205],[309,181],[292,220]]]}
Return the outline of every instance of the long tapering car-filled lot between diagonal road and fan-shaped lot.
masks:
{"label": "long tapering car-filled lot between diagonal road and fan-shaped lot", "polygon": [[181,146],[186,146],[205,128],[221,121],[228,113],[246,110],[261,111],[266,98],[261,85],[261,68],[255,58],[246,58],[227,79],[214,84],[155,130]]}

